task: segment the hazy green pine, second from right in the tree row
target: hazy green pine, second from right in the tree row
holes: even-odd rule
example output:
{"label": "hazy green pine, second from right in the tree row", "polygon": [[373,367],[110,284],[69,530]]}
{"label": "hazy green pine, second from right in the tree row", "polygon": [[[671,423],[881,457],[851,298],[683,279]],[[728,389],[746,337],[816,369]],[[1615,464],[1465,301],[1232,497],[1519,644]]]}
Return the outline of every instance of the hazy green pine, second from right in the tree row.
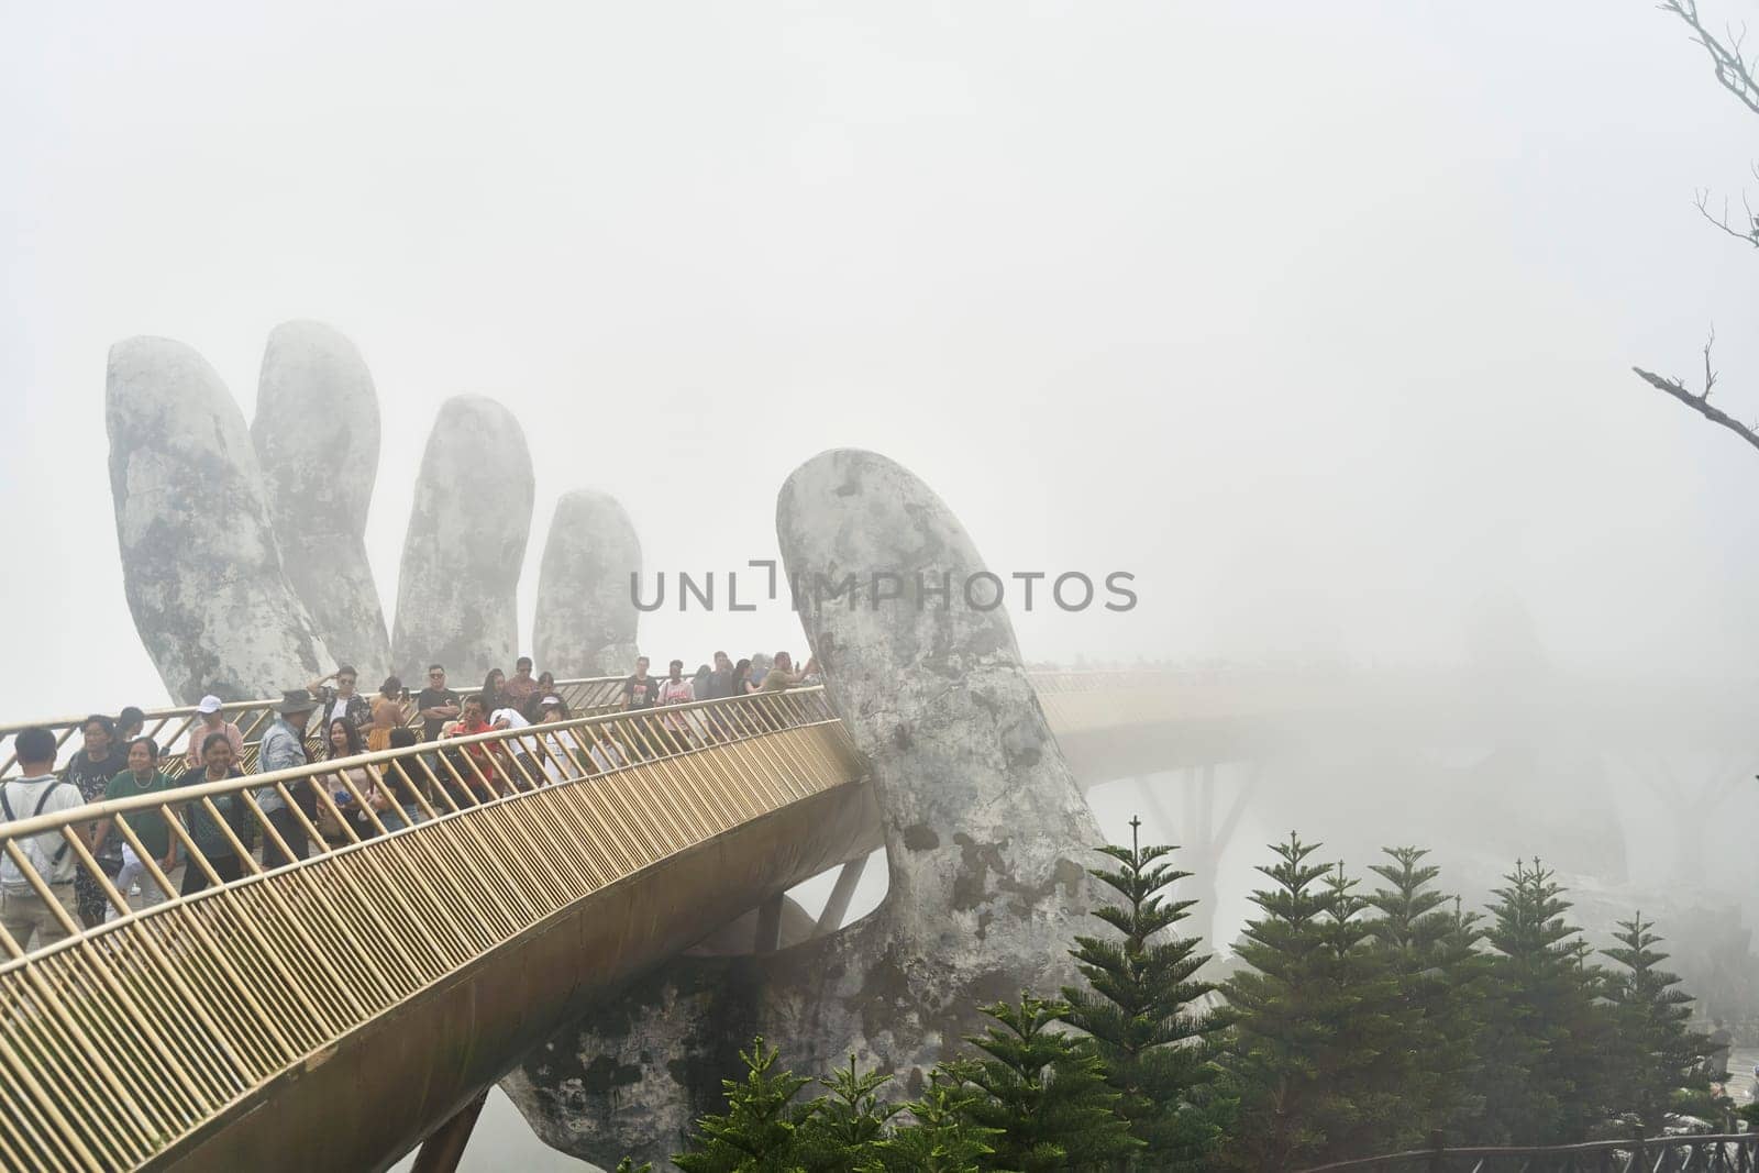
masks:
{"label": "hazy green pine, second from right in the tree row", "polygon": [[1564,920],[1569,900],[1539,860],[1516,862],[1497,888],[1486,934],[1493,994],[1488,1001],[1478,1092],[1485,1099],[1472,1140],[1562,1145],[1606,1120],[1611,1015],[1595,999],[1601,973]]}

